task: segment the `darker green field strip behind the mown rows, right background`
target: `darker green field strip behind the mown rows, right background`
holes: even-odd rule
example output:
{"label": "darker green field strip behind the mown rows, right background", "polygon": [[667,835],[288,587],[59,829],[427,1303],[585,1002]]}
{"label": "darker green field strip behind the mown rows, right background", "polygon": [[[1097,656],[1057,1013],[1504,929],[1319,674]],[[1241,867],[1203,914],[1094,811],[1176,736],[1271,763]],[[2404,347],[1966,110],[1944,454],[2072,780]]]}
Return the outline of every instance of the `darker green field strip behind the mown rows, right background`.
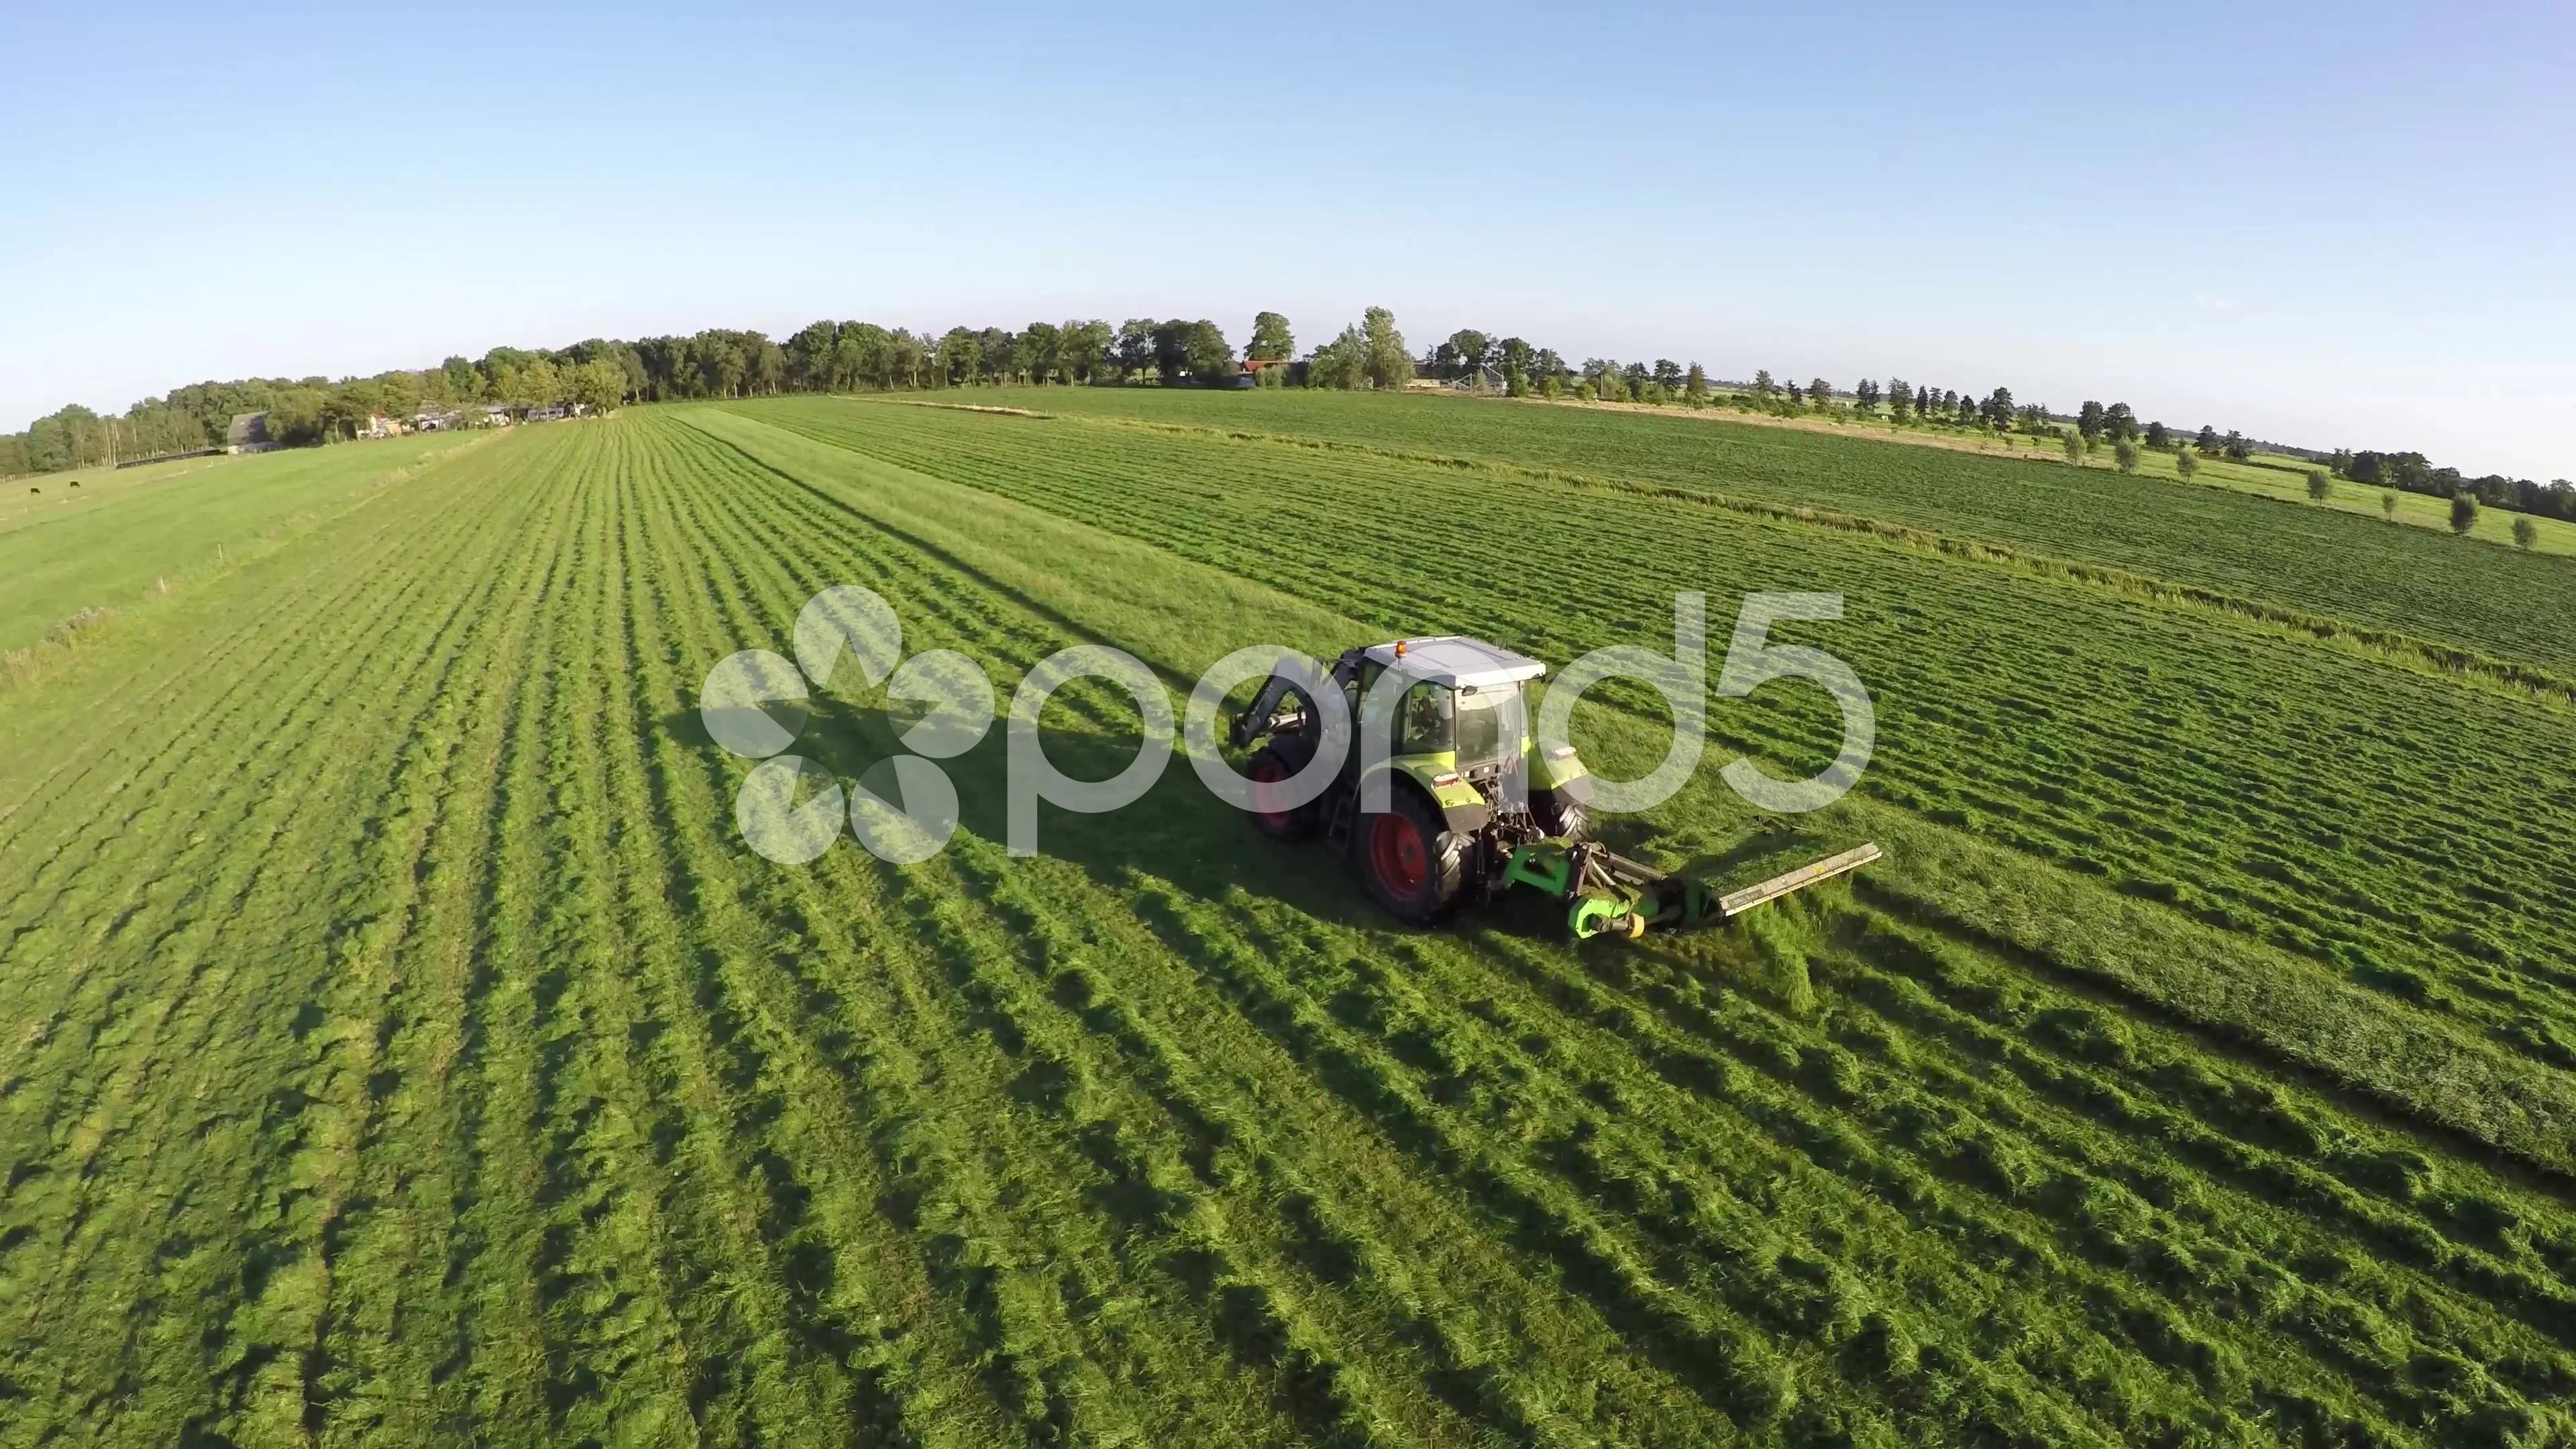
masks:
{"label": "darker green field strip behind the mown rows, right background", "polygon": [[2576,565],[2223,487],[1672,413],[1463,397],[971,389],[969,402],[1296,433],[1821,508],[2112,565],[2576,676]]}

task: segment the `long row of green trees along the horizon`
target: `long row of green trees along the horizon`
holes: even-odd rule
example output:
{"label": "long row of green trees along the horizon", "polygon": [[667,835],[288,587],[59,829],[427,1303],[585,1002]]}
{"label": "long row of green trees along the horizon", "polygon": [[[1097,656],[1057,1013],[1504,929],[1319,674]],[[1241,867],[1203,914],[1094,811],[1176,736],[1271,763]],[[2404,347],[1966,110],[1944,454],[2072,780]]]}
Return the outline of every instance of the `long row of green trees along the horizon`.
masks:
{"label": "long row of green trees along the horizon", "polygon": [[[2184,472],[2195,459],[2244,462],[2257,449],[2236,431],[2218,433],[2202,425],[2184,436],[2164,423],[2141,425],[2128,402],[2084,402],[2071,418],[2061,418],[2040,402],[2017,402],[2009,387],[1991,392],[1935,389],[1901,376],[1860,379],[1850,389],[1837,389],[1816,376],[1801,387],[1798,382],[1775,382],[1767,369],[1757,371],[1752,382],[1710,382],[1698,361],[1687,366],[1672,358],[1651,364],[1584,358],[1571,364],[1553,348],[1473,327],[1450,333],[1414,358],[1394,315],[1386,307],[1370,307],[1303,358],[1296,356],[1288,317],[1278,312],[1252,317],[1252,333],[1239,356],[1226,333],[1206,317],[1128,317],[1115,327],[1092,317],[1028,322],[1020,330],[948,327],[945,333],[819,320],[783,343],[757,330],[708,327],[639,340],[590,338],[559,351],[492,348],[482,358],[451,356],[433,369],[397,369],[337,382],[325,376],[198,382],[134,402],[121,415],[98,415],[70,405],[39,418],[23,433],[0,433],[0,477],[216,449],[224,446],[227,425],[240,413],[265,413],[270,441],[330,443],[358,436],[379,415],[397,420],[456,410],[523,415],[569,402],[608,410],[621,402],[773,392],[1136,382],[1388,389],[1417,376],[1471,389],[1492,387],[1507,397],[1726,405],[1775,415],[1852,413],[1875,418],[1886,410],[1896,425],[2058,436],[2071,459],[2110,446],[2123,469],[2136,467],[2138,449],[2179,454],[2177,467]],[[2488,508],[2576,521],[2576,487],[2566,480],[2540,485],[2504,474],[2463,477],[2460,469],[2432,467],[2424,454],[2285,451],[2329,464],[2336,477],[2367,487],[2476,498]]]}

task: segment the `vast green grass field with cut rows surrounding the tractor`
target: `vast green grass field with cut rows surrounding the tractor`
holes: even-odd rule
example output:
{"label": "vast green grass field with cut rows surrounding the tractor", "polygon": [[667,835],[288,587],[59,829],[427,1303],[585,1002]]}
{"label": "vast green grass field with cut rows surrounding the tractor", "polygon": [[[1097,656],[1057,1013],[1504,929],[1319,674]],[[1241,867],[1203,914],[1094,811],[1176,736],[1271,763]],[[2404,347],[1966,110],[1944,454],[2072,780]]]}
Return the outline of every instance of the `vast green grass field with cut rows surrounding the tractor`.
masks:
{"label": "vast green grass field with cut rows surrounding the tractor", "polygon": [[[966,400],[1051,415],[237,459],[0,572],[121,606],[191,487],[265,536],[0,688],[0,1441],[2576,1441],[2568,559],[1783,428]],[[773,866],[696,691],[832,583],[1005,696],[1842,590],[1780,634],[1868,681],[1862,786],[1716,781],[1829,758],[1775,683],[1607,835],[1888,859],[1414,933],[1185,768],[1010,859],[994,732],[945,853]]]}

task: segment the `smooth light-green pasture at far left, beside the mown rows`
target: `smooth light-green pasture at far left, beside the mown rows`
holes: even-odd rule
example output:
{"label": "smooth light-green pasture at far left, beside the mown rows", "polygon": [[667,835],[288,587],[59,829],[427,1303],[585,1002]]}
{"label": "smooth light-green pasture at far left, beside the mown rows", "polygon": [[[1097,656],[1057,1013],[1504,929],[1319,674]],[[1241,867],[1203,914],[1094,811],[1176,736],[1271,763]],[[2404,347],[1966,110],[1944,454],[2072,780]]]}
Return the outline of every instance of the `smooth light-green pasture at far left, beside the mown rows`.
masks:
{"label": "smooth light-green pasture at far left, beside the mown rows", "polygon": [[183,583],[273,544],[348,508],[381,474],[453,446],[456,438],[389,438],[5,482],[0,652],[33,645],[82,608],[142,603],[162,580]]}

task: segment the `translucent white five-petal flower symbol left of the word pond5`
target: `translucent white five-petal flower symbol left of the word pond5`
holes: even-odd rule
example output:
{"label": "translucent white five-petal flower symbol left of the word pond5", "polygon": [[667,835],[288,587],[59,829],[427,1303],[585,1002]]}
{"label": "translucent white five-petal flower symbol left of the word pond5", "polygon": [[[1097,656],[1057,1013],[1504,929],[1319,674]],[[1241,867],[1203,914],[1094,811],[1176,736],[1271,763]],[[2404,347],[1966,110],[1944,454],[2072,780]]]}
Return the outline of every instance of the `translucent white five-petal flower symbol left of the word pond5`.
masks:
{"label": "translucent white five-petal flower symbol left of the word pond5", "polygon": [[[902,732],[909,753],[884,758],[850,781],[786,753],[804,732],[814,691],[855,668],[868,688],[886,688],[886,709],[917,714]],[[930,763],[963,755],[992,730],[992,681],[956,650],[904,657],[904,624],[894,608],[855,583],[827,588],[796,611],[796,657],[742,650],[706,670],[698,688],[706,735],[734,755],[760,761],[734,792],[734,828],[762,856],[801,866],[832,848],[842,820],[884,861],[917,864],[940,853],[958,828],[958,792]]]}

